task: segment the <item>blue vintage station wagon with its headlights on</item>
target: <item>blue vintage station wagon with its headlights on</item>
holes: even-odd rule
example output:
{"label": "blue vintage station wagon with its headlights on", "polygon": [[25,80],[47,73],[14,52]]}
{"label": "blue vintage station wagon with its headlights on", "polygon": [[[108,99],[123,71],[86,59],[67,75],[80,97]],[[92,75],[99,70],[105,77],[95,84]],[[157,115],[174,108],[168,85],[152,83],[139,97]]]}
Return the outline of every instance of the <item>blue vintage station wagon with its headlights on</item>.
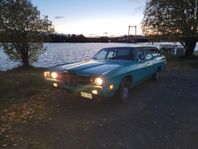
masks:
{"label": "blue vintage station wagon with its headlights on", "polygon": [[155,47],[111,47],[88,61],[52,67],[44,76],[52,86],[86,99],[116,96],[125,103],[130,87],[150,77],[158,80],[165,67],[165,56]]}

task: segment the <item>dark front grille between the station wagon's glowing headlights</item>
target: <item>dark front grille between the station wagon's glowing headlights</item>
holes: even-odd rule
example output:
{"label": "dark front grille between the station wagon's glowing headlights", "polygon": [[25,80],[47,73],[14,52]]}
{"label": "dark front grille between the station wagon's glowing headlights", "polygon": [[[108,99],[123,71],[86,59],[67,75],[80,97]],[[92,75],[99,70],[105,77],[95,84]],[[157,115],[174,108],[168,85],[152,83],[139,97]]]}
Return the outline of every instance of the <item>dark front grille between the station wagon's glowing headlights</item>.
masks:
{"label": "dark front grille between the station wagon's glowing headlights", "polygon": [[88,85],[91,83],[91,77],[81,76],[73,73],[65,73],[63,80],[66,85],[70,86]]}

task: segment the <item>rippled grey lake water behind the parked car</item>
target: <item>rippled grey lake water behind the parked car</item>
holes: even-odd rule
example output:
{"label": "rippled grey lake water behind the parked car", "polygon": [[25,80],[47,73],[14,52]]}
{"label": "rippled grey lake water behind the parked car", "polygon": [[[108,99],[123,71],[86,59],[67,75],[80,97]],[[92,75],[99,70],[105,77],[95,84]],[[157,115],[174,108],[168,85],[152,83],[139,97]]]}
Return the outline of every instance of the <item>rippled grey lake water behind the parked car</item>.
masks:
{"label": "rippled grey lake water behind the parked car", "polygon": [[[144,43],[143,43],[144,44]],[[104,47],[132,46],[127,43],[45,43],[47,51],[39,57],[35,67],[50,67],[66,62],[86,60]],[[198,44],[196,47],[198,50]],[[8,70],[18,66],[18,62],[11,61],[0,48],[0,70]]]}

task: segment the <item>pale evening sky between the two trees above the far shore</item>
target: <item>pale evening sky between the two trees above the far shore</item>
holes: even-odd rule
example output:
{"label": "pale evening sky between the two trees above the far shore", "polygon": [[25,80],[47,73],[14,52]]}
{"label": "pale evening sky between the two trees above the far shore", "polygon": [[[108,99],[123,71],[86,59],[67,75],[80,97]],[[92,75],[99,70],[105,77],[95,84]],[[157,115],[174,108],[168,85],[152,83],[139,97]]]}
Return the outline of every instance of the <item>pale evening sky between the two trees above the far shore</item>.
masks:
{"label": "pale evening sky between the two trees above the far shore", "polygon": [[[141,35],[141,21],[146,0],[31,0],[41,15],[47,15],[55,31],[85,36],[121,36],[128,34],[128,26],[137,26]],[[134,34],[131,28],[130,34]]]}

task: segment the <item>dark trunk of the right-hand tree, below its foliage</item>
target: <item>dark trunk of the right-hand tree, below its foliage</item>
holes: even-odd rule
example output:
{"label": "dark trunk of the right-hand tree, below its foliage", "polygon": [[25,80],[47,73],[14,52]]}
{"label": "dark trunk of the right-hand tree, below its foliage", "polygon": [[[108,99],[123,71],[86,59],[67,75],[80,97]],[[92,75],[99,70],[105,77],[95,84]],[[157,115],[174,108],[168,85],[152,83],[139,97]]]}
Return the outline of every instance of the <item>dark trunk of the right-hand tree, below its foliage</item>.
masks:
{"label": "dark trunk of the right-hand tree, below its foliage", "polygon": [[192,57],[196,46],[196,38],[188,38],[184,40],[184,48],[186,50],[185,57]]}

